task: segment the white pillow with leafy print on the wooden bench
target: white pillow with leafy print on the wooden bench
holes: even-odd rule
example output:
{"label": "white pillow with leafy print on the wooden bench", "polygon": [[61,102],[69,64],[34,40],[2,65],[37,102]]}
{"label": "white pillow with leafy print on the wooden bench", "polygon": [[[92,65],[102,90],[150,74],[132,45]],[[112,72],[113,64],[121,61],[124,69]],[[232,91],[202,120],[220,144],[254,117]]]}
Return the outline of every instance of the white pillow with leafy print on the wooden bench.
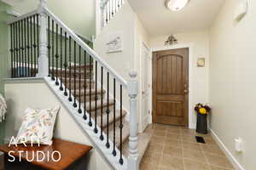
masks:
{"label": "white pillow with leafy print on the wooden bench", "polygon": [[35,143],[52,144],[55,118],[60,107],[46,110],[33,110],[27,108],[24,120],[16,137],[18,144]]}

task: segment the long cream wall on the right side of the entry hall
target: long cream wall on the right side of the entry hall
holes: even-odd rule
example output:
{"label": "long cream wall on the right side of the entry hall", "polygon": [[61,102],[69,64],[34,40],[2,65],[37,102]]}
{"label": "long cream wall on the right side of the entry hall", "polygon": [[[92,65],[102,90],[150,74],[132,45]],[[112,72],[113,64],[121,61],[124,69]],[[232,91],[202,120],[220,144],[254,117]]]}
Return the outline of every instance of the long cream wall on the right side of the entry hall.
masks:
{"label": "long cream wall on the right side of the entry hall", "polygon": [[[241,22],[234,19],[236,0],[225,1],[211,29],[210,101],[212,130],[244,169],[256,168],[256,1],[248,1]],[[241,137],[244,152],[236,153]]]}

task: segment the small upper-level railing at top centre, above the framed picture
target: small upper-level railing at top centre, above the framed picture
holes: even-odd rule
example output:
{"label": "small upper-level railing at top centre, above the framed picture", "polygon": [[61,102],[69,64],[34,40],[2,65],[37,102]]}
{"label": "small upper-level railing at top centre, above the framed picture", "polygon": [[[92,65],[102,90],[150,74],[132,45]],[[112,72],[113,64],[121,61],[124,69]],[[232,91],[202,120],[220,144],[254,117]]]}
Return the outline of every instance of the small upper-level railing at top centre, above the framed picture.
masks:
{"label": "small upper-level railing at top centre, above the framed picture", "polygon": [[123,6],[125,0],[102,0],[102,28],[108,25],[113,16]]}

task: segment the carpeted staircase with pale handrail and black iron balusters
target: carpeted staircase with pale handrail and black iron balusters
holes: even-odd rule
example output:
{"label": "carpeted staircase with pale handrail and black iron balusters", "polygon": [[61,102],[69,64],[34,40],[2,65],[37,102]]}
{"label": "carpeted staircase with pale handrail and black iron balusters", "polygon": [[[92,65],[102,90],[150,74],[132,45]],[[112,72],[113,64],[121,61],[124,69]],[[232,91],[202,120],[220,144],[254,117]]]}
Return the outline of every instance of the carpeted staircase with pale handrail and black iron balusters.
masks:
{"label": "carpeted staircase with pale handrail and black iron balusters", "polygon": [[[114,2],[123,1],[106,3],[116,13],[121,6]],[[113,169],[137,170],[150,140],[148,133],[137,134],[137,73],[131,71],[126,82],[49,11],[45,0],[9,26],[12,77],[48,77]]]}

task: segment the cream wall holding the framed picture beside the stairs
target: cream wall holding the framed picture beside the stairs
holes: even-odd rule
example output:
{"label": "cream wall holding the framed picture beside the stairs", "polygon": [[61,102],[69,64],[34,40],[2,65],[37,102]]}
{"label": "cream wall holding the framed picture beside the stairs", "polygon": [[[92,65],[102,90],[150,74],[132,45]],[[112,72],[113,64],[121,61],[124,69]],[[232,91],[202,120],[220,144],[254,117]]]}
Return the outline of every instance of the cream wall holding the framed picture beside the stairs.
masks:
{"label": "cream wall holding the framed picture beside the stairs", "polygon": [[[122,35],[123,50],[117,53],[107,53],[108,48],[106,43],[108,42],[108,37],[118,32]],[[94,43],[94,49],[97,54],[99,54],[102,59],[104,59],[108,65],[110,65],[119,76],[123,77],[126,81],[130,80],[128,75],[129,71],[137,71],[134,65],[136,59],[135,48],[136,48],[136,14],[131,9],[129,3],[125,2],[121,10],[113,17],[105,26],[101,33],[96,37]],[[106,75],[106,74],[105,74]],[[101,77],[99,77],[100,80]],[[106,80],[106,76],[105,76]],[[113,80],[113,77],[110,79]],[[105,86],[106,83],[105,83]],[[119,96],[119,86],[116,88],[117,96]],[[110,82],[110,92],[113,94],[113,82]],[[125,109],[129,110],[129,98],[126,90],[123,90],[123,104]],[[117,98],[119,101],[119,98]]]}

